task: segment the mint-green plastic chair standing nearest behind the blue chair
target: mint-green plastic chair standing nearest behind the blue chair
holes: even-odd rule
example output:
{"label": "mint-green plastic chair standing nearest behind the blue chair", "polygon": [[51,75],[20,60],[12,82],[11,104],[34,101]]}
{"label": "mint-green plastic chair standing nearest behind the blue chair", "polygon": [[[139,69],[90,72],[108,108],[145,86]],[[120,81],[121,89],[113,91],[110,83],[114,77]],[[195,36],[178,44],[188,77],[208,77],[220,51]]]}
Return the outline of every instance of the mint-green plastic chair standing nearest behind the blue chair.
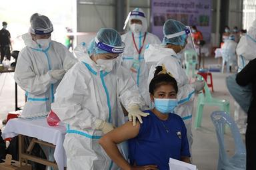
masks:
{"label": "mint-green plastic chair standing nearest behind the blue chair", "polygon": [[[203,77],[198,75],[200,80],[203,80]],[[217,98],[213,98],[211,96],[211,92],[205,83],[204,86],[204,93],[201,92],[198,94],[197,98],[197,112],[195,115],[195,129],[201,127],[202,116],[203,116],[203,106],[219,106],[221,111],[225,111],[229,114],[229,101],[228,100],[221,100]]]}

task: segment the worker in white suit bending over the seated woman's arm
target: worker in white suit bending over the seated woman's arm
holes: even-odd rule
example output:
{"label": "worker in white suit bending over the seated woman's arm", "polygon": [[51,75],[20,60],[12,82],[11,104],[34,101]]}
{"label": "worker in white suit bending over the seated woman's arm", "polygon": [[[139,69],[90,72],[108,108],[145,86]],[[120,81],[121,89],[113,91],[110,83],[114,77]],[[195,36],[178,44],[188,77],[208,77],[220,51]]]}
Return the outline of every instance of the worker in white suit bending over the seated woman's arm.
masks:
{"label": "worker in white suit bending over the seated woman's arm", "polygon": [[[121,126],[124,114],[140,120],[147,114],[135,81],[117,58],[125,44],[114,29],[100,29],[88,54],[65,74],[55,94],[53,112],[67,124],[64,148],[67,169],[119,169],[99,145],[98,139]],[[79,57],[81,58],[81,57]],[[124,153],[124,147],[119,147]]]}

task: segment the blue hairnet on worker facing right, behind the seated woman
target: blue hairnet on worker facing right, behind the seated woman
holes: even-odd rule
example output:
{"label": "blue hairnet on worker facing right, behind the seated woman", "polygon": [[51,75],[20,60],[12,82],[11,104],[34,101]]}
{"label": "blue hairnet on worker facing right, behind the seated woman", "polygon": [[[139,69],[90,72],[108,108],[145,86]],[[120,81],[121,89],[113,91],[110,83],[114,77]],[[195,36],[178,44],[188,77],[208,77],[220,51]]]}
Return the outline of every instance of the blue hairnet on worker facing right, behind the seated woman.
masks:
{"label": "blue hairnet on worker facing right, behind the seated woman", "polygon": [[[163,35],[172,35],[175,33],[179,33],[181,31],[185,31],[186,26],[183,23],[176,21],[174,19],[168,19],[165,21],[163,25]],[[186,44],[187,35],[181,35],[179,37],[174,37],[171,39],[167,39],[167,37],[163,37],[162,44],[175,44],[179,46],[185,46]]]}

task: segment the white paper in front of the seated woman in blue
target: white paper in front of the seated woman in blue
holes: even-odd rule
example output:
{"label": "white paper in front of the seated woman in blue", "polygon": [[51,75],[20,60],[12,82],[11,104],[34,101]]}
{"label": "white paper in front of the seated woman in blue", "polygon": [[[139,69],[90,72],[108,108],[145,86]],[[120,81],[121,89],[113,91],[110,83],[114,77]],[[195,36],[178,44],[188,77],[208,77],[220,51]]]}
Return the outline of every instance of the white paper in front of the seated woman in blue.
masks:
{"label": "white paper in front of the seated woman in blue", "polygon": [[196,170],[197,166],[176,159],[169,159],[170,170]]}

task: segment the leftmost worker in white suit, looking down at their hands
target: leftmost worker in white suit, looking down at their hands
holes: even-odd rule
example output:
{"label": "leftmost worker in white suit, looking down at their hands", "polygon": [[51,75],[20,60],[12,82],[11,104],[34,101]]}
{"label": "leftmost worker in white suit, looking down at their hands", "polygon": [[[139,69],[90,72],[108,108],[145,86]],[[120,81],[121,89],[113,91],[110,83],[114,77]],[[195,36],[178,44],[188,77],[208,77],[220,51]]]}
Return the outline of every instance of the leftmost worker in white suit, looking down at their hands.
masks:
{"label": "leftmost worker in white suit, looking down at their hands", "polygon": [[48,17],[31,16],[29,33],[22,36],[25,48],[19,52],[15,81],[26,92],[22,116],[40,116],[51,110],[55,90],[65,72],[77,59],[65,46],[51,41],[53,25]]}

